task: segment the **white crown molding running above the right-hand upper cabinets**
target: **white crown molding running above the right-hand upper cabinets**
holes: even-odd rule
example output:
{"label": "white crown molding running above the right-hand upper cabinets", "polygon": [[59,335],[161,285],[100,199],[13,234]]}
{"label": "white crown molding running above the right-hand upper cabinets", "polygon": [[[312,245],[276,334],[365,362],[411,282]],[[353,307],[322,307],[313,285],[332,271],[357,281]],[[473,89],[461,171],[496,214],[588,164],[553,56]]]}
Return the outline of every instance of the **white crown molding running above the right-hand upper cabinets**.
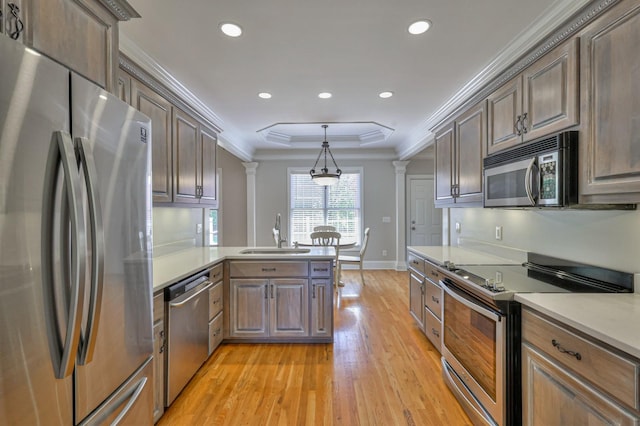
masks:
{"label": "white crown molding running above the right-hand upper cabinets", "polygon": [[428,146],[433,142],[432,130],[438,124],[451,119],[463,107],[487,97],[556,45],[574,36],[578,30],[618,1],[620,0],[556,1],[540,19],[529,25],[482,71],[421,123],[408,142],[400,147],[398,156],[409,158]]}

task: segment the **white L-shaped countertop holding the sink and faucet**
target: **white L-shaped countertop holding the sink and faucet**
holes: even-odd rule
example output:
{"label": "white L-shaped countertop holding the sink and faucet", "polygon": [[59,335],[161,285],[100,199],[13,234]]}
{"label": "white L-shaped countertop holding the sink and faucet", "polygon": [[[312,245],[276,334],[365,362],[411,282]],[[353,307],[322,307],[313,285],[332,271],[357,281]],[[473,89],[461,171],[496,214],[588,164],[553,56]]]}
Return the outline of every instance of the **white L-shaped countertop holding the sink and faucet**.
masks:
{"label": "white L-shaped countertop holding the sink and faucet", "polygon": [[153,256],[154,293],[225,259],[243,260],[328,260],[335,259],[333,247],[309,247],[308,253],[241,254],[245,249],[273,247],[193,247],[161,256]]}

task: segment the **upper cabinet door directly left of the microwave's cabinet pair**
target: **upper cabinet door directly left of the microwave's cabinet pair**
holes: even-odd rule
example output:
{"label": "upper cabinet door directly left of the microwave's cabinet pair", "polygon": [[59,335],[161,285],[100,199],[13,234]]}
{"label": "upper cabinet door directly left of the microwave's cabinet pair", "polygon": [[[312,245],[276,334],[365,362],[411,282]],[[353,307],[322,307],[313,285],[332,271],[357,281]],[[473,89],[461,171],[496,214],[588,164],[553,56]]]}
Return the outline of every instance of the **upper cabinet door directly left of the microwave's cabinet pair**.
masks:
{"label": "upper cabinet door directly left of the microwave's cabinet pair", "polygon": [[456,203],[482,202],[482,159],[487,141],[486,102],[456,119]]}

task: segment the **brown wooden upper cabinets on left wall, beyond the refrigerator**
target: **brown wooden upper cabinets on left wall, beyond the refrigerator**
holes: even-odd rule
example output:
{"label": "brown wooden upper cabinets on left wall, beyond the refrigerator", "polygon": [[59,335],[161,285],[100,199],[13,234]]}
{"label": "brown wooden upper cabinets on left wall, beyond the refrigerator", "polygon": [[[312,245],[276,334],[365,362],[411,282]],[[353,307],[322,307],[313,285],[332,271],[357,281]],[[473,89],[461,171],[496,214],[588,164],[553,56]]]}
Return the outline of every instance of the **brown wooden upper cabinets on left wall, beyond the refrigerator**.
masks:
{"label": "brown wooden upper cabinets on left wall, beyond the refrigerator", "polygon": [[217,131],[128,59],[122,62],[117,95],[151,118],[154,203],[216,208]]}

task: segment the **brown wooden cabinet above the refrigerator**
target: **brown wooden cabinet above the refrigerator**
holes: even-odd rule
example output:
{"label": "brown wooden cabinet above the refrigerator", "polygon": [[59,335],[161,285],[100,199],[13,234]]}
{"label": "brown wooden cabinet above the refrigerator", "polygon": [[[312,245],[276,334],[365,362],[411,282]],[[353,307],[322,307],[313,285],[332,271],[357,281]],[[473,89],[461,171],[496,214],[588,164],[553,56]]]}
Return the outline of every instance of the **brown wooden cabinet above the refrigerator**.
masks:
{"label": "brown wooden cabinet above the refrigerator", "polygon": [[140,16],[126,1],[18,0],[0,5],[2,32],[116,91],[118,21]]}

